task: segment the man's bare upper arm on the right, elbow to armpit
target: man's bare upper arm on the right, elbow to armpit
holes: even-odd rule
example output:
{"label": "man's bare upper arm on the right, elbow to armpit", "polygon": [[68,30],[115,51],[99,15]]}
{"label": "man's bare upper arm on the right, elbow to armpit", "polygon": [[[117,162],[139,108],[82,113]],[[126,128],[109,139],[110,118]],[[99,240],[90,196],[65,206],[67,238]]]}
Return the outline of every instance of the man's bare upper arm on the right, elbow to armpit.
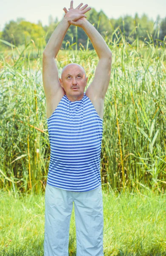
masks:
{"label": "man's bare upper arm on the right, elbow to armpit", "polygon": [[104,99],[111,76],[112,55],[109,58],[100,58],[98,61],[94,79],[86,90],[86,93],[95,96],[97,99]]}

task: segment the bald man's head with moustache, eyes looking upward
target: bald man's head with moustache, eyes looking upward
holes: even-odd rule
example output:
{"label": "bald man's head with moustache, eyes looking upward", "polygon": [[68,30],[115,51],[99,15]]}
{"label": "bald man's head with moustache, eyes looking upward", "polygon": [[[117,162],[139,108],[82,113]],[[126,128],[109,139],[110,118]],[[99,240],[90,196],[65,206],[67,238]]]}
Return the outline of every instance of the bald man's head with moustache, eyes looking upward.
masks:
{"label": "bald man's head with moustache, eyes looking upward", "polygon": [[61,87],[66,92],[66,96],[69,96],[73,100],[79,100],[79,96],[82,99],[88,77],[86,77],[81,66],[73,63],[67,65],[59,80]]}

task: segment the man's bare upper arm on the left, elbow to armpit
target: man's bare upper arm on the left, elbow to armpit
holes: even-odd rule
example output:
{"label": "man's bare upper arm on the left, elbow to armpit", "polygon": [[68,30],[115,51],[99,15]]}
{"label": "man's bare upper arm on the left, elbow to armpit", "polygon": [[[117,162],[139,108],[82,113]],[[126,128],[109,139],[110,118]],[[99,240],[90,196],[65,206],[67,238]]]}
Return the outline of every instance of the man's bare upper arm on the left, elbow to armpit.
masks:
{"label": "man's bare upper arm on the left, elbow to armpit", "polygon": [[55,58],[45,54],[43,54],[43,87],[47,101],[54,98],[57,91],[63,91],[58,78]]}

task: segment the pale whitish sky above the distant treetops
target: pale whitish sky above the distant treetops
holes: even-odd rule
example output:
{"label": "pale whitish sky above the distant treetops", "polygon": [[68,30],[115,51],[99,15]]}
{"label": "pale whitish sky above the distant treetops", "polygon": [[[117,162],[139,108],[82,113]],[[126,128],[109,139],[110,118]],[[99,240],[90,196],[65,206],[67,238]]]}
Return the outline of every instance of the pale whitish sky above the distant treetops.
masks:
{"label": "pale whitish sky above the distant treetops", "polygon": [[[80,3],[83,5],[87,3],[97,12],[103,10],[107,17],[115,19],[125,15],[134,17],[136,12],[139,17],[145,13],[154,21],[157,15],[160,15],[160,18],[166,17],[166,0],[87,0],[86,2],[74,0],[74,8]],[[0,31],[2,31],[5,23],[9,23],[10,20],[16,21],[18,17],[25,18],[31,23],[40,20],[43,26],[49,25],[49,15],[52,15],[53,19],[57,17],[60,21],[65,14],[63,8],[70,7],[70,0],[1,0],[0,7]]]}

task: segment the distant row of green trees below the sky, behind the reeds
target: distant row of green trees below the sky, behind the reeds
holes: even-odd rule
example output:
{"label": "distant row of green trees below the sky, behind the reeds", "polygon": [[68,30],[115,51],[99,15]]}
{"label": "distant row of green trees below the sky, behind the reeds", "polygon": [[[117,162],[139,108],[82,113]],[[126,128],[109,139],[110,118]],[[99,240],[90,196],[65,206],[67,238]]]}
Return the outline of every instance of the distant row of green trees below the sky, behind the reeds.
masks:
{"label": "distant row of green trees below the sky, behind the reeds", "polygon": [[[166,17],[161,19],[159,15],[155,21],[152,19],[149,20],[146,14],[139,17],[137,13],[134,18],[126,15],[118,19],[109,19],[102,10],[97,12],[94,8],[86,15],[89,22],[95,26],[103,37],[110,37],[113,34],[113,41],[114,39],[117,40],[117,37],[120,38],[120,31],[123,35],[125,34],[126,41],[129,44],[135,41],[136,36],[139,36],[140,43],[143,42],[145,38],[146,41],[149,41],[147,32],[149,35],[152,35],[154,42],[155,39],[163,41],[166,35]],[[38,20],[37,24],[34,24],[26,21],[24,18],[17,18],[17,21],[10,20],[9,23],[6,23],[3,31],[0,32],[0,38],[17,47],[28,44],[33,40],[36,47],[39,47],[41,40],[42,44],[46,45],[58,23],[57,17],[54,19],[52,15],[49,16],[49,26],[42,26],[40,20]],[[135,28],[137,28],[137,34],[135,33]],[[117,29],[116,36],[114,31]],[[83,47],[86,47],[87,38],[83,29],[70,26],[64,38],[62,49],[66,49],[66,46],[71,45],[73,42],[77,42],[78,44],[82,44]],[[6,45],[2,42],[0,42],[0,49],[1,51],[6,49]],[[89,42],[89,49],[93,49],[91,42]]]}

